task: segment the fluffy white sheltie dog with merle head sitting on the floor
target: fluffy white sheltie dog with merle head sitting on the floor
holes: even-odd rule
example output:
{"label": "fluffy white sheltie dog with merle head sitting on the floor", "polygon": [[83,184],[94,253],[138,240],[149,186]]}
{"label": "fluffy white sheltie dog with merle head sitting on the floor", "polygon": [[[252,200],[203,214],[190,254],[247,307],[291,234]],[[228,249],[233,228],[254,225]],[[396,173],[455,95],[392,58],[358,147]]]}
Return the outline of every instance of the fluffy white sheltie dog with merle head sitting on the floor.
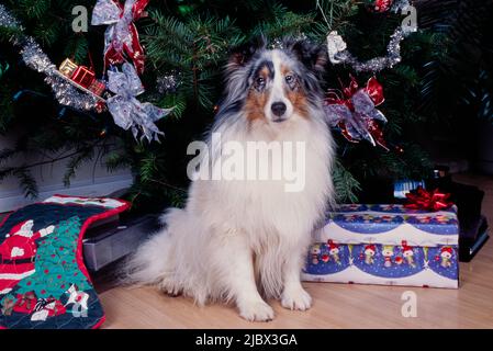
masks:
{"label": "fluffy white sheltie dog with merle head sitting on the floor", "polygon": [[[311,234],[334,199],[334,144],[318,79],[326,53],[306,41],[287,39],[276,49],[259,42],[235,50],[226,65],[224,99],[204,141],[210,152],[193,167],[186,207],[169,210],[164,229],[125,264],[132,284],[156,285],[199,305],[232,301],[251,321],[274,317],[265,298],[278,298],[289,309],[311,307],[301,270]],[[287,157],[292,150],[283,146],[301,145],[295,166],[304,171],[302,186],[287,190],[290,180],[283,177],[202,177],[226,163],[227,143],[234,149],[280,145],[274,151],[259,148],[257,160],[272,169],[281,161],[294,167]],[[255,167],[238,155],[244,161],[238,168]]]}

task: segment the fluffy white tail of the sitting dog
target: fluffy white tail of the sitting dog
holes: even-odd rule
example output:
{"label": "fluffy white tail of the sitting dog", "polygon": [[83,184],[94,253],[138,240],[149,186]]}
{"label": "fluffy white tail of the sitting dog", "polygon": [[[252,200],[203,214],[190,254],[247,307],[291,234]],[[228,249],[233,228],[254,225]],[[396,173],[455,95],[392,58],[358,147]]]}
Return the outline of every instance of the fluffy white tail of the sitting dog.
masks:
{"label": "fluffy white tail of the sitting dog", "polygon": [[186,212],[171,208],[161,216],[166,227],[145,241],[124,262],[121,282],[125,285],[159,285],[169,294],[178,294],[173,284],[176,274],[175,237],[187,231]]}

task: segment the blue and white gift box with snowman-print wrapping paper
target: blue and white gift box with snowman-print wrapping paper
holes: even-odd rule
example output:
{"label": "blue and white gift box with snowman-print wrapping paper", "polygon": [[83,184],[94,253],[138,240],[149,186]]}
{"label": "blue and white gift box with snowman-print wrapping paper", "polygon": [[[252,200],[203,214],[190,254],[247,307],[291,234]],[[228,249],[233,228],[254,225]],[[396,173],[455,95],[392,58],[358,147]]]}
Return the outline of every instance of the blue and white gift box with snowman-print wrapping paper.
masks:
{"label": "blue and white gift box with snowman-print wrapping paper", "polygon": [[340,205],[315,233],[303,280],[457,288],[457,207]]}

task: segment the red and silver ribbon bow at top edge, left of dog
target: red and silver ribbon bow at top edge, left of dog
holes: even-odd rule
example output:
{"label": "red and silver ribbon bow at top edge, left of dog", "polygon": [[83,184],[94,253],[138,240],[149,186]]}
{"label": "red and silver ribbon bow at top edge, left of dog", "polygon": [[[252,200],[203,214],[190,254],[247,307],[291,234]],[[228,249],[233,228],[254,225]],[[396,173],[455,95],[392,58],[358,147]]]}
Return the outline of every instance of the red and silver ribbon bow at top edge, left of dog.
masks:
{"label": "red and silver ribbon bow at top edge, left of dog", "polygon": [[92,11],[92,25],[108,25],[104,32],[104,67],[123,64],[126,54],[139,75],[144,71],[144,48],[134,21],[142,16],[149,0],[98,0]]}

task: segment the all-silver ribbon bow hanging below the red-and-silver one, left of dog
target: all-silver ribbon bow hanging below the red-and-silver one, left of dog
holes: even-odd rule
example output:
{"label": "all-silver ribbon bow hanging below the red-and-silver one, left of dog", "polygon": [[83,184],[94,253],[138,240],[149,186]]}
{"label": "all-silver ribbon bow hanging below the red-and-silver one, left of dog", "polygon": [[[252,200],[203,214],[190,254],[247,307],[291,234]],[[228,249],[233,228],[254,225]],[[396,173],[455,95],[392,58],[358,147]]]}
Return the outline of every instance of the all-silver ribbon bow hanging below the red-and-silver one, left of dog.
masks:
{"label": "all-silver ribbon bow hanging below the red-and-silver one, left of dog", "polygon": [[158,140],[158,136],[164,135],[154,123],[168,115],[172,109],[159,109],[135,99],[144,92],[144,87],[134,66],[125,63],[122,71],[110,70],[108,89],[115,93],[107,100],[107,105],[117,126],[125,131],[132,129],[135,138],[142,132],[141,139],[146,137],[149,141]]}

